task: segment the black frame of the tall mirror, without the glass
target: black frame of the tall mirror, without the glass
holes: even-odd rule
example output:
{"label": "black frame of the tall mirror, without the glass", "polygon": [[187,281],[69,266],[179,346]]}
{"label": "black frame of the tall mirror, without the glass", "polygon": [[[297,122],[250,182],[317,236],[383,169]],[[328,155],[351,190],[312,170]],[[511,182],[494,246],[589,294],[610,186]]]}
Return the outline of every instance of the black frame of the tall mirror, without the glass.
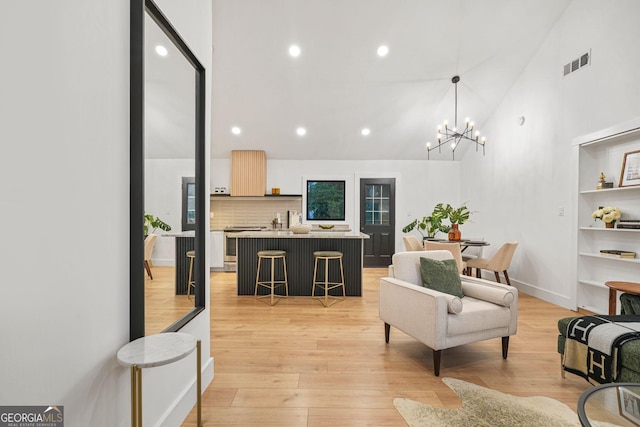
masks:
{"label": "black frame of the tall mirror, without the glass", "polygon": [[144,336],[144,14],[149,13],[195,71],[196,230],[195,307],[163,332],[175,332],[205,308],[205,69],[152,0],[130,1],[129,339]]}

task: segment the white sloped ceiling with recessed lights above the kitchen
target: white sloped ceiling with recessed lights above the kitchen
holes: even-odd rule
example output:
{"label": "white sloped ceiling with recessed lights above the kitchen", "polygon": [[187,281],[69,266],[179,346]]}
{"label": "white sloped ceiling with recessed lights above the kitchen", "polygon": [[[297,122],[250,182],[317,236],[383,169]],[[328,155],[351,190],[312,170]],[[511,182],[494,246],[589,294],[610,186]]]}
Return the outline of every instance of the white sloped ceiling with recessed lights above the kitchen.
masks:
{"label": "white sloped ceiling with recessed lights above the kitchen", "polygon": [[213,0],[211,156],[426,159],[436,126],[454,120],[451,78],[458,122],[482,132],[570,2]]}

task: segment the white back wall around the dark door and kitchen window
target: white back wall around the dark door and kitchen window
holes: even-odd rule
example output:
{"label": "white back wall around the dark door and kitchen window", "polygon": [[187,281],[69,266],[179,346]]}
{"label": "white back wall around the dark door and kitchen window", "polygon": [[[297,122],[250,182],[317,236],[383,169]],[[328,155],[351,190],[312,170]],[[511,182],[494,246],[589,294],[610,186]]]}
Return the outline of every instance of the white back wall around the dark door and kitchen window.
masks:
{"label": "white back wall around the dark door and kitchen window", "polygon": [[[359,224],[359,179],[396,178],[396,251],[404,250],[402,227],[428,215],[440,202],[460,203],[460,163],[451,161],[351,161],[351,160],[277,160],[267,151],[267,190],[280,187],[281,194],[303,194],[303,176],[314,178],[348,177],[352,185],[351,203],[346,207],[346,222],[357,230]],[[227,187],[231,161],[211,161],[211,186]]]}

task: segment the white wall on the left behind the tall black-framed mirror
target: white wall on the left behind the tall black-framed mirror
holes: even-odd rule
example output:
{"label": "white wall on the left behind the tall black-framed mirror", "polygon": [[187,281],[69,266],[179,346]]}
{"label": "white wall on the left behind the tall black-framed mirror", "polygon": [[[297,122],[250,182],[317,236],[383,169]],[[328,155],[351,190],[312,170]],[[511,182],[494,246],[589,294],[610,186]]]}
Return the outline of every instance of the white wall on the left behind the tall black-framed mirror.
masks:
{"label": "white wall on the left behind the tall black-framed mirror", "polygon": [[[192,14],[185,33],[205,62],[210,0],[190,4],[179,16]],[[35,7],[0,6],[0,404],[64,405],[70,427],[128,425],[115,355],[129,338],[129,1]],[[185,329],[206,340],[210,379],[208,311]],[[190,409],[194,364],[145,372],[150,425]]]}

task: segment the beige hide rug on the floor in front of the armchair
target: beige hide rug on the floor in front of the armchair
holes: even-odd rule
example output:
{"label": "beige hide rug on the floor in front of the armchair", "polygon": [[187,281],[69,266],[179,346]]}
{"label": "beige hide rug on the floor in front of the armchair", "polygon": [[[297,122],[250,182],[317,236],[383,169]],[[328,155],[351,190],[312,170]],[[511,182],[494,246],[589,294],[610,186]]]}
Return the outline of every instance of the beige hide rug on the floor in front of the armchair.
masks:
{"label": "beige hide rug on the floor in front of the armchair", "polygon": [[516,397],[453,378],[442,381],[460,397],[462,407],[435,408],[409,399],[394,399],[393,404],[410,427],[580,426],[578,415],[571,408],[549,397]]}

